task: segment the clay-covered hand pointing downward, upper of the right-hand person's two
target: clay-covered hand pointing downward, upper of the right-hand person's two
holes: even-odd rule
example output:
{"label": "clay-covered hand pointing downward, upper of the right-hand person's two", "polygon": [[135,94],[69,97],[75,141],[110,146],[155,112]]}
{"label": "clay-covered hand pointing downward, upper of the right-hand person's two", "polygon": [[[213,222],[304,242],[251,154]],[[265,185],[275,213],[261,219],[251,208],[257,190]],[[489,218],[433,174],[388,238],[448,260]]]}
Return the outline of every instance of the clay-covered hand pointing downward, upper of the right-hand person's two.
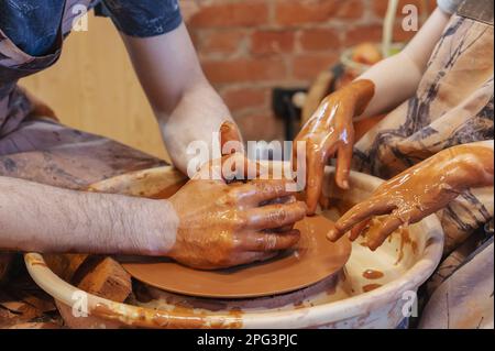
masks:
{"label": "clay-covered hand pointing downward, upper of the right-hand person's two", "polygon": [[323,99],[297,135],[293,165],[297,165],[297,142],[306,142],[306,202],[309,215],[314,215],[317,208],[324,165],[336,154],[336,182],[339,187],[349,188],[354,145],[353,118],[363,113],[373,95],[374,84],[371,80],[356,80],[345,86]]}

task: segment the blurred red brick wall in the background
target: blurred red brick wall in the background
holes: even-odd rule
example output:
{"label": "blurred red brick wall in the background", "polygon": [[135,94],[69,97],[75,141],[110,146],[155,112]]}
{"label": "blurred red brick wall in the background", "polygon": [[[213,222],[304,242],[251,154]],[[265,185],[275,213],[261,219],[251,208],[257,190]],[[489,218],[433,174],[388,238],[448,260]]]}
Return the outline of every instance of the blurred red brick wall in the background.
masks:
{"label": "blurred red brick wall in the background", "polygon": [[[380,41],[387,0],[182,0],[206,75],[248,140],[283,135],[271,111],[274,86],[306,87],[343,48]],[[405,0],[418,9],[433,0]],[[400,14],[399,14],[400,15]],[[410,32],[396,23],[395,39]]]}

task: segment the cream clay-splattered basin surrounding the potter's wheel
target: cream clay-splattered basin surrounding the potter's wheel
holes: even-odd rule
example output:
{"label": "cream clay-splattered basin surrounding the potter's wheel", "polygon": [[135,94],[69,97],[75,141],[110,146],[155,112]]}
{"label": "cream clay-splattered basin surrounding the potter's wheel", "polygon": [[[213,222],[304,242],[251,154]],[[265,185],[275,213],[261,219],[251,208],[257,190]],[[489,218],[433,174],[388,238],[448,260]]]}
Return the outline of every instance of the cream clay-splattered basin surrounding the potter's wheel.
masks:
{"label": "cream clay-splattered basin surrounding the potter's wheel", "polygon": [[[163,167],[109,179],[92,189],[155,197],[173,194],[184,180],[173,168]],[[351,173],[351,190],[327,186],[324,195],[338,206],[322,215],[337,219],[382,182]],[[98,317],[99,327],[395,328],[409,307],[414,309],[416,290],[438,265],[442,246],[443,232],[433,215],[394,233],[376,252],[358,240],[341,272],[297,292],[228,300],[183,296],[135,282],[125,304],[91,294],[84,303],[88,315]],[[76,287],[48,268],[41,254],[26,254],[25,263],[34,281],[59,303],[73,306],[75,296],[80,296]]]}

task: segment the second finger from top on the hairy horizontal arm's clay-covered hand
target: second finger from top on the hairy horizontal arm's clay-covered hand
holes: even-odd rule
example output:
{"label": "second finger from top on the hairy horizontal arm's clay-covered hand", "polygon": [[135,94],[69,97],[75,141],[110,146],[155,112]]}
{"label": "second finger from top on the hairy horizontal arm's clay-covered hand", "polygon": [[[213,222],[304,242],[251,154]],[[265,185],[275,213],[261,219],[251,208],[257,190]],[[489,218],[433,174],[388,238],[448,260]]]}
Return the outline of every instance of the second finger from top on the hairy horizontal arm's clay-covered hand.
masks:
{"label": "second finger from top on the hairy horizontal arm's clay-covered hand", "polygon": [[245,213],[246,228],[265,230],[292,226],[306,216],[306,205],[293,204],[266,205],[250,209]]}

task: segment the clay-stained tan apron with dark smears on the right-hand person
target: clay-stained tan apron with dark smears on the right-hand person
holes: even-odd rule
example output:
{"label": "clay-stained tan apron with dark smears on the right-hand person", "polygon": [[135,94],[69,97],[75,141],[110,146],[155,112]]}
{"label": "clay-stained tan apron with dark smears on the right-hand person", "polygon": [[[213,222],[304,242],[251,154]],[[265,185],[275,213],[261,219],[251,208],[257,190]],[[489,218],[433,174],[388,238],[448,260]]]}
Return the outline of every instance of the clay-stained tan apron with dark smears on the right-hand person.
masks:
{"label": "clay-stained tan apron with dark smears on the right-hand person", "polygon": [[[416,95],[355,144],[354,169],[387,179],[443,149],[493,140],[493,0],[460,6]],[[433,295],[420,327],[493,328],[493,232],[480,230],[493,212],[493,187],[468,190],[437,212],[444,260],[427,285]]]}

